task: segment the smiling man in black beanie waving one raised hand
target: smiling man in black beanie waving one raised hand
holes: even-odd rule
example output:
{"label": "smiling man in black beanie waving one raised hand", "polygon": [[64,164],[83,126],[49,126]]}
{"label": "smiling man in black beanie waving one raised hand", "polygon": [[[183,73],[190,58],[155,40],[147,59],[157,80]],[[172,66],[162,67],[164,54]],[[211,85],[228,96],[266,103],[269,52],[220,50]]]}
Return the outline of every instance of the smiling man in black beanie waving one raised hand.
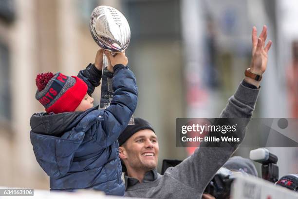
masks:
{"label": "smiling man in black beanie waving one raised hand", "polygon": [[[238,125],[238,136],[241,138],[245,135],[245,127],[255,107],[261,75],[267,67],[267,53],[272,41],[265,46],[266,38],[266,26],[263,27],[259,38],[256,27],[253,27],[250,70],[245,73],[245,79],[220,115],[220,118],[247,118],[244,123]],[[162,176],[156,172],[159,152],[157,136],[147,121],[135,119],[135,125],[128,126],[118,141],[119,157],[127,169],[125,196],[158,199],[201,198],[216,171],[240,144],[234,142],[227,147],[219,148],[208,147],[207,142],[205,147],[197,148],[193,155],[176,167],[168,168]]]}

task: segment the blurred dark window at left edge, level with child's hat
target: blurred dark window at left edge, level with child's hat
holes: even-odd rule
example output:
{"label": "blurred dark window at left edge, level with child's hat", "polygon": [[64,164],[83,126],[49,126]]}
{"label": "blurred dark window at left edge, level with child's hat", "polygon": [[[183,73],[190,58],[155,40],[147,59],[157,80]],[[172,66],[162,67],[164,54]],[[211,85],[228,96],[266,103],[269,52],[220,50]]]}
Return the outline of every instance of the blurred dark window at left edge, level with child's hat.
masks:
{"label": "blurred dark window at left edge, level with child's hat", "polygon": [[0,121],[11,119],[11,95],[9,80],[9,51],[0,43]]}

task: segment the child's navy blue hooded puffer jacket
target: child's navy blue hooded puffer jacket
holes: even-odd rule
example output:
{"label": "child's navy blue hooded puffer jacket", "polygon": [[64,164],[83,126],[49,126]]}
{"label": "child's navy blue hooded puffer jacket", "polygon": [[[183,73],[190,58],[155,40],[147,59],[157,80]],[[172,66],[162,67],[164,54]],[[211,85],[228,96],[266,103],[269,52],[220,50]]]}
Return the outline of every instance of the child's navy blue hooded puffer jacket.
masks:
{"label": "child's navy blue hooded puffer jacket", "polygon": [[[91,66],[78,77],[92,94],[100,74]],[[37,162],[50,177],[51,190],[95,189],[124,195],[118,136],[126,128],[137,104],[133,73],[114,66],[114,96],[105,110],[98,106],[84,112],[36,113],[30,119],[30,139]]]}

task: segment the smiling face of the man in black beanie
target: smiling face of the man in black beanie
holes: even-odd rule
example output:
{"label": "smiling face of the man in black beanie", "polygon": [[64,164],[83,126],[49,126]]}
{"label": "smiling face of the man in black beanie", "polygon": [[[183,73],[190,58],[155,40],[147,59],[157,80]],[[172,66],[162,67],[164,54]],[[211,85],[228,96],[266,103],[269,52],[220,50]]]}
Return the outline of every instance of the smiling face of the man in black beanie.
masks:
{"label": "smiling face of the man in black beanie", "polygon": [[158,142],[153,131],[144,129],[133,134],[120,147],[120,158],[125,162],[128,171],[149,171],[157,166]]}

